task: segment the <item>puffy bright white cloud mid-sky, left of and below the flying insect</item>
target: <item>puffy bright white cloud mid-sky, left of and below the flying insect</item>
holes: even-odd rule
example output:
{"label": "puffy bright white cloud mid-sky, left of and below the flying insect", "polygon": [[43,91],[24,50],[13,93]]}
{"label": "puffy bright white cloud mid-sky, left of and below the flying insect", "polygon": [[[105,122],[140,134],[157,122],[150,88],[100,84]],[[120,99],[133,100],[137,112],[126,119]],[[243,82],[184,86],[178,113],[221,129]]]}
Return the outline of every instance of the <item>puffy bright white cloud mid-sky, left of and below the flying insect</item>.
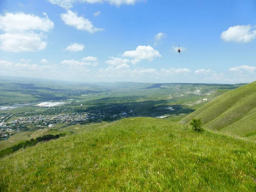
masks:
{"label": "puffy bright white cloud mid-sky, left of and below the flying insect", "polygon": [[150,47],[149,45],[138,46],[136,50],[133,51],[125,51],[125,53],[122,56],[134,58],[134,60],[131,61],[132,64],[136,64],[143,59],[153,61],[154,58],[162,57],[162,55],[160,55],[160,53],[157,50],[154,50],[153,47]]}

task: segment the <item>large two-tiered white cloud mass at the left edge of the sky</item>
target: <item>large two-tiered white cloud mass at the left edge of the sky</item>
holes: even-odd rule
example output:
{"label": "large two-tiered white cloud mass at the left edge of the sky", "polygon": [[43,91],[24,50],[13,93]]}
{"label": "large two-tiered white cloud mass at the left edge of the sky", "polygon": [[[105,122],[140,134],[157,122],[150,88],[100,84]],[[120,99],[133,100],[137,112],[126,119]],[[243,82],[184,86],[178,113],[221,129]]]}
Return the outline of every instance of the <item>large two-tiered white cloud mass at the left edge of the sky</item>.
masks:
{"label": "large two-tiered white cloud mass at the left edge of the sky", "polygon": [[47,47],[43,41],[47,35],[34,31],[49,32],[54,23],[46,17],[26,15],[23,12],[0,15],[0,29],[4,34],[0,35],[0,50],[7,52],[36,52]]}

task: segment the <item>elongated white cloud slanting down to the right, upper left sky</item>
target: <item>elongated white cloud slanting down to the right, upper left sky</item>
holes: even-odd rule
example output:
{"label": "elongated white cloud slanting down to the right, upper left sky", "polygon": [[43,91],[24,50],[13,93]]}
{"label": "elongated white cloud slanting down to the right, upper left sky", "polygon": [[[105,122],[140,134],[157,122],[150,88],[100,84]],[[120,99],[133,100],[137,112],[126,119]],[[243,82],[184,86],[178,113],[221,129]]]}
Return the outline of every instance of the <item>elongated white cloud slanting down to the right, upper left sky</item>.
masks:
{"label": "elongated white cloud slanting down to the right, upper left sky", "polygon": [[89,33],[105,30],[96,28],[90,20],[84,17],[79,17],[77,13],[74,13],[71,10],[67,10],[67,13],[62,13],[61,20],[63,20],[66,25],[73,26],[78,30],[87,31]]}

